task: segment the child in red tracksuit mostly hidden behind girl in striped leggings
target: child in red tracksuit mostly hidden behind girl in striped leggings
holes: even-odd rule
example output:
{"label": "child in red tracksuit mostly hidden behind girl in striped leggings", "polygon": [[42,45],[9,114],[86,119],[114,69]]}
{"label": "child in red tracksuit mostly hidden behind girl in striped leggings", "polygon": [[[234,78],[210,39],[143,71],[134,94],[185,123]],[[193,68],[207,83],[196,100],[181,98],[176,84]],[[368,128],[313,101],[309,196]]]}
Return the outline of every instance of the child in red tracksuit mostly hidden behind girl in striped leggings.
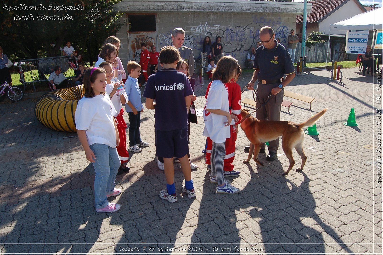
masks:
{"label": "child in red tracksuit mostly hidden behind girl in striped leggings", "polygon": [[[226,144],[225,144],[226,155],[224,158],[224,165],[223,165],[224,177],[239,175],[239,171],[233,170],[234,165],[232,163],[234,161],[235,150],[236,150],[238,124],[242,119],[241,117],[241,87],[239,87],[239,85],[236,82],[239,79],[239,76],[241,76],[241,72],[242,72],[241,67],[238,67],[236,79],[235,80],[232,79],[231,82],[225,84],[229,92],[230,113],[238,117],[238,122],[236,123],[236,125],[231,125],[231,136],[230,138],[226,139]],[[205,98],[208,95],[210,85],[211,83],[208,85]],[[208,165],[208,170],[210,170],[210,155],[211,155],[211,147],[213,143],[209,137],[207,137],[207,142],[208,142],[208,146],[206,149],[206,164]]]}

